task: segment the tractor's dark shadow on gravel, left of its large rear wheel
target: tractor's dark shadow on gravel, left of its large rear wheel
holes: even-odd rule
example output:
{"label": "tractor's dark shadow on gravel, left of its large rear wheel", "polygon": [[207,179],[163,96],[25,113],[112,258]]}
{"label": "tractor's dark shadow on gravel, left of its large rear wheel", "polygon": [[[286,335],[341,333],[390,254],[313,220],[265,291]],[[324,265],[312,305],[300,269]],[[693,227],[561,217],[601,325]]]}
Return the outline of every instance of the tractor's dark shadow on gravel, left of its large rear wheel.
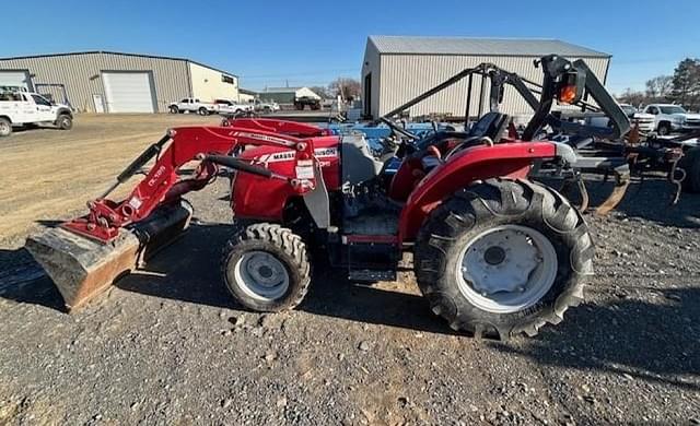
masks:
{"label": "tractor's dark shadow on gravel, left of its large rear wheel", "polygon": [[[225,288],[220,272],[221,248],[230,235],[229,225],[194,221],[189,230],[151,259],[143,271],[115,285],[153,297],[242,309]],[[65,311],[60,294],[26,250],[0,250],[0,297]],[[310,293],[298,309],[358,322],[452,333],[430,312],[422,297],[350,283],[342,271],[323,268],[316,271]]]}

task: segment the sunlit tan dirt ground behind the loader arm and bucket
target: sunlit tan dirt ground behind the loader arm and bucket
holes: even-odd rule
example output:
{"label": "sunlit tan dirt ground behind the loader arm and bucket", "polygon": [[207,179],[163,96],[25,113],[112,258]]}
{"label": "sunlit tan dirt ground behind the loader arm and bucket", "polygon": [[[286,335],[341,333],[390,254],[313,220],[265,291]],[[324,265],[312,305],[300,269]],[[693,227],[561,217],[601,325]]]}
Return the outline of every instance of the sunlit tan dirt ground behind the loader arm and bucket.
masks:
{"label": "sunlit tan dirt ground behind the loader arm and bucket", "polygon": [[71,131],[15,131],[0,140],[0,236],[82,209],[168,127],[218,123],[195,115],[81,115]]}

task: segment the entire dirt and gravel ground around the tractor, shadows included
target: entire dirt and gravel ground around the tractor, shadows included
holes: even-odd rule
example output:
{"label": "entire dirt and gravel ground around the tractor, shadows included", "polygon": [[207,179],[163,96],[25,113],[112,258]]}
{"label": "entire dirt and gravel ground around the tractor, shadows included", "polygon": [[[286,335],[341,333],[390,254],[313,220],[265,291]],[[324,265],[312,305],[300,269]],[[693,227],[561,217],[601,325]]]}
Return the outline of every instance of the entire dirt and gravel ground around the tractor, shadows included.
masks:
{"label": "entire dirt and gravel ground around the tractor, shadows included", "polygon": [[700,424],[700,197],[667,208],[663,181],[587,217],[586,303],[508,343],[453,334],[408,274],[363,286],[317,270],[300,309],[241,310],[219,277],[224,180],[189,197],[183,239],[79,313],[47,279],[18,279],[28,230],[188,121],[202,120],[80,117],[0,141],[0,425]]}

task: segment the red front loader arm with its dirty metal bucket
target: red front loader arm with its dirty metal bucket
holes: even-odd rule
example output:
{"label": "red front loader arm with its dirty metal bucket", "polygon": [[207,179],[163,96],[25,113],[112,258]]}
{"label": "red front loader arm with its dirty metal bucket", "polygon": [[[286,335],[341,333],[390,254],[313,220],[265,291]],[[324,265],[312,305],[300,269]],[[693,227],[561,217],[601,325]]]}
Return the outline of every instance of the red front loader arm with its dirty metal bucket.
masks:
{"label": "red front loader arm with its dirty metal bucket", "polygon": [[[298,174],[300,168],[313,168],[311,139],[259,127],[240,128],[235,121],[234,127],[173,129],[119,174],[105,193],[89,202],[90,211],[85,216],[30,236],[25,247],[51,277],[70,311],[140,268],[182,235],[189,225],[192,209],[180,197],[207,186],[219,166],[284,180],[300,194],[313,190],[315,177],[308,178],[308,170],[301,170],[303,179],[281,176],[228,155],[246,145],[284,146],[294,152],[298,164],[301,161],[307,164],[296,167]],[[127,198],[121,201],[107,199],[116,187],[153,158],[155,164]],[[194,176],[180,179],[178,170],[192,161],[199,162]]]}

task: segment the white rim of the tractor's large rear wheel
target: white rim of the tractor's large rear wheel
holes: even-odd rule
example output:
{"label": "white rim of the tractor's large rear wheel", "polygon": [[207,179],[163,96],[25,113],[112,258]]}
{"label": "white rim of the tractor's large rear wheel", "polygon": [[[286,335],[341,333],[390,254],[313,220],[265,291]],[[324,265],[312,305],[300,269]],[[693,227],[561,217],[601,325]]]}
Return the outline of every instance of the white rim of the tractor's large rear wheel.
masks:
{"label": "white rim of the tractor's large rear wheel", "polygon": [[537,304],[557,277],[555,246],[527,226],[502,225],[465,245],[457,262],[459,292],[479,309],[511,313]]}

